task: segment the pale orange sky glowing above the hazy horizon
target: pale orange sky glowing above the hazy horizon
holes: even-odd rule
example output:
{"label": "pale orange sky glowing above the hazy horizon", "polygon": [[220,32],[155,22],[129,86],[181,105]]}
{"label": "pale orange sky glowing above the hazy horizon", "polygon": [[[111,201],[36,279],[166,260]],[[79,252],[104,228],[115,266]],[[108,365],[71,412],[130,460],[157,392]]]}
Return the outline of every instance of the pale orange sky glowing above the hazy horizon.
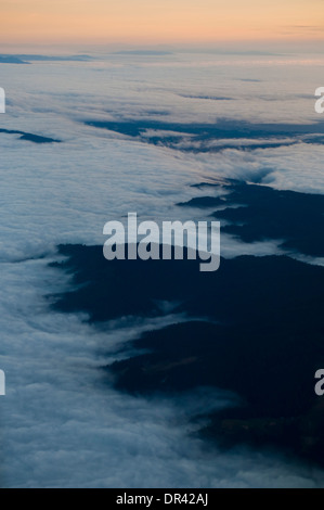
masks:
{"label": "pale orange sky glowing above the hazy horizon", "polygon": [[1,0],[1,43],[324,40],[324,0]]}

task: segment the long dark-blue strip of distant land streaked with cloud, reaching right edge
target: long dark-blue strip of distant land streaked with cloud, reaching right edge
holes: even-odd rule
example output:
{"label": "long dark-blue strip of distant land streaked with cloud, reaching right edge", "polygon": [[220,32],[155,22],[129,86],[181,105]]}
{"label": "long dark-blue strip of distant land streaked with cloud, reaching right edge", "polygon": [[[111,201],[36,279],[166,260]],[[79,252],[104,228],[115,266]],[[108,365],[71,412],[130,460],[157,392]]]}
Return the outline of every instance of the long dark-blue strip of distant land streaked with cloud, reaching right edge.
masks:
{"label": "long dark-blue strip of distant land streaked with cloud, reaching right edge", "polygon": [[[183,94],[182,94],[183,95]],[[187,99],[211,99],[230,101],[225,97],[194,97]],[[86,120],[87,126],[107,129],[138,139],[143,143],[168,146],[182,152],[217,153],[228,149],[256,151],[277,149],[297,143],[324,144],[322,119],[312,124],[249,123],[220,118],[217,123],[172,123],[152,118]],[[163,132],[161,132],[163,131]],[[217,143],[215,143],[217,142]]]}

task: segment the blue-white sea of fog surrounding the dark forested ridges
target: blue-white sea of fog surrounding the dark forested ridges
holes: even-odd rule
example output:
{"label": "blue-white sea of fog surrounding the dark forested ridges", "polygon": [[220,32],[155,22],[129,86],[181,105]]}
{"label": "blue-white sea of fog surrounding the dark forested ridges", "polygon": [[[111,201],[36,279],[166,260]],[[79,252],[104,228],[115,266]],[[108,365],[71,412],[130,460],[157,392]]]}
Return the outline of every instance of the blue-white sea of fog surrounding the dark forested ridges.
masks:
{"label": "blue-white sea of fog surrounding the dark forested ridges", "polygon": [[[126,317],[101,331],[81,314],[53,311],[47,297],[70,285],[68,275],[49,267],[59,244],[103,244],[105,222],[129,212],[158,221],[202,219],[206,212],[176,206],[199,196],[192,184],[231,178],[323,193],[323,125],[314,112],[323,58],[101,51],[81,61],[23,60],[28,63],[0,64],[7,93],[0,115],[0,368],[7,374],[0,485],[324,486],[322,471],[274,451],[218,451],[199,438],[202,423],[187,416],[230,406],[235,395],[200,388],[167,399],[114,390],[101,367],[119,359],[119,346],[139,332],[171,323],[171,311]],[[147,124],[141,136],[130,136],[119,124],[116,130],[93,125],[105,122]],[[215,123],[238,126],[241,139],[209,137],[200,151],[202,140],[194,145],[186,127]],[[275,146],[237,150],[259,141],[248,130],[244,137],[249,124],[304,130],[296,139],[285,127]],[[179,148],[164,143],[170,133]],[[221,143],[232,146],[212,150]],[[224,257],[281,253],[275,241],[245,244],[224,235],[221,243]]]}

